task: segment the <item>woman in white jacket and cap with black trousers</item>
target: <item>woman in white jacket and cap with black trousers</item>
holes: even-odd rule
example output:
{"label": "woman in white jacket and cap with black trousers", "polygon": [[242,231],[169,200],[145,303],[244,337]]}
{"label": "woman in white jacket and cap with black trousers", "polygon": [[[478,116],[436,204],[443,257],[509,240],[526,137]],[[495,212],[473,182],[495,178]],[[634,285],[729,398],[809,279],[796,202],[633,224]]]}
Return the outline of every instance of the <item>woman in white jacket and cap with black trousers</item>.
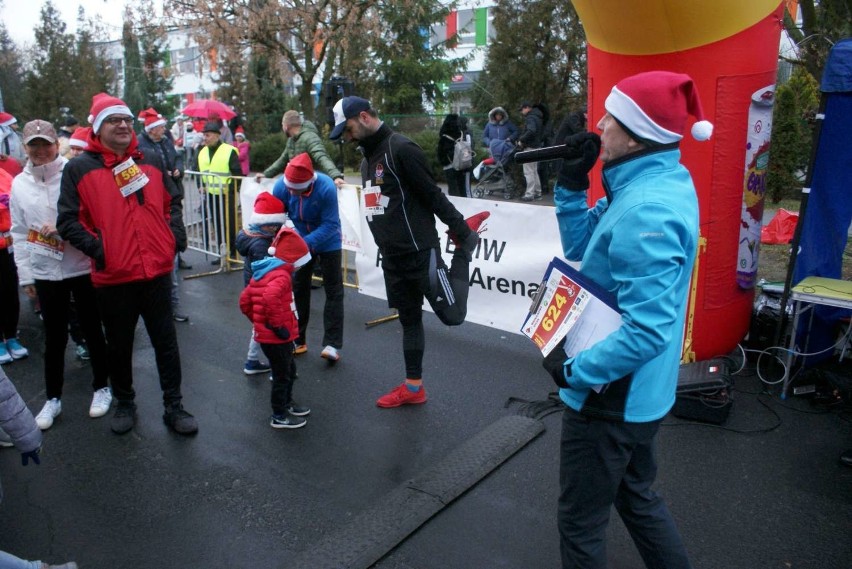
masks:
{"label": "woman in white jacket and cap with black trousers", "polygon": [[90,276],[91,261],[56,232],[59,185],[62,169],[68,161],[59,155],[53,126],[42,120],[28,122],[24,126],[24,150],[27,165],[12,183],[12,238],[18,244],[15,263],[19,282],[27,296],[38,296],[44,320],[47,402],[36,416],[36,423],[45,430],[62,412],[72,295],[89,348],[94,376],[90,417],[106,415],[112,403],[112,393],[108,387],[109,368],[103,328]]}

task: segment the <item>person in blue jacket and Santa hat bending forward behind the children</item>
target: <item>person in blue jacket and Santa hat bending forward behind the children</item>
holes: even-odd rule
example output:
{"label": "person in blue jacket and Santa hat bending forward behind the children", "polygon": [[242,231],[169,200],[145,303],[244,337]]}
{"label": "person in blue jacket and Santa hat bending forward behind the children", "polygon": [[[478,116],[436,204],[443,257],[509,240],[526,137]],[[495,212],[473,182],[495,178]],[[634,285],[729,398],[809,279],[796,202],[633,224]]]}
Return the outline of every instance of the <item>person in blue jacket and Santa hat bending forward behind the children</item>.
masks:
{"label": "person in blue jacket and Santa hat bending forward behind the children", "polygon": [[307,152],[295,156],[284,169],[284,176],[272,188],[272,195],[284,202],[296,231],[311,250],[311,260],[293,275],[293,295],[299,315],[299,338],[295,354],[308,351],[308,321],[311,315],[311,277],[319,260],[325,289],[323,325],[325,346],[320,356],[330,364],[340,359],[343,347],[343,270],[340,214],[337,185],[323,173],[314,172]]}

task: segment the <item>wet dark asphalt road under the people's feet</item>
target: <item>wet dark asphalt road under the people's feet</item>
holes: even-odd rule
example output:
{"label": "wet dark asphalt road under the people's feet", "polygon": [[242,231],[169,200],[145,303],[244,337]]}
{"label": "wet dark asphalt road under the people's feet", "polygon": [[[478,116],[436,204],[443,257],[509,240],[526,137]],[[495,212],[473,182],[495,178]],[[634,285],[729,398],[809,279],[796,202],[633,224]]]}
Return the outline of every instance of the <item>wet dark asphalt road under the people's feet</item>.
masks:
{"label": "wet dark asphalt road under the people's feet", "polygon": [[[197,269],[209,266],[198,254]],[[248,321],[236,299],[239,272],[184,281],[188,324],[177,324],[184,402],[200,425],[182,438],[163,425],[153,351],[137,331],[139,421],[116,436],[90,419],[90,374],[69,346],[63,413],[45,433],[41,466],[22,468],[0,449],[5,498],[0,549],[29,559],[76,560],[82,569],[290,567],[406,480],[514,413],[510,397],[551,390],[534,347],[473,324],[424,317],[429,402],[379,409],[403,377],[401,329],[384,301],[346,291],[345,346],[333,367],[319,357],[322,291],[314,291],[309,352],[298,359],[306,428],[269,427],[269,381],[242,364]],[[34,413],[44,402],[40,321],[24,305],[30,358],[4,366]],[[813,413],[804,400],[760,396],[736,380],[724,430],[667,418],[659,437],[658,489],[696,568],[848,567],[852,446],[848,415]],[[765,403],[765,405],[764,405]],[[768,406],[768,407],[767,407]],[[771,410],[770,410],[771,409]],[[773,413],[777,413],[776,419]],[[555,568],[559,414],[546,431],[385,555],[379,569]],[[769,433],[734,432],[780,426]],[[641,567],[613,516],[613,568]],[[381,538],[381,536],[378,536]]]}

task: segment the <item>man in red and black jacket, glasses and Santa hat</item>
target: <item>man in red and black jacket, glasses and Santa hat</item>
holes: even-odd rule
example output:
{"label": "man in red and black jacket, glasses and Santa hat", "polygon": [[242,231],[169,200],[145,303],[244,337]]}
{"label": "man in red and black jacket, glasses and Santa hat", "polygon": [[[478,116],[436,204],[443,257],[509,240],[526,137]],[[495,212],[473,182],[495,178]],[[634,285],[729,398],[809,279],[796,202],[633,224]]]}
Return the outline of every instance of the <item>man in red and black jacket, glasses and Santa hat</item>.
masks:
{"label": "man in red and black jacket, glasses and Santa hat", "polygon": [[180,195],[156,153],[143,155],[133,113],[106,93],[92,98],[86,152],[66,165],[57,229],[92,259],[92,283],[106,330],[117,434],[136,424],[133,336],[141,316],[154,346],[163,421],[182,435],[198,431],[181,405],[181,366],[171,307],[171,276],[186,239]]}

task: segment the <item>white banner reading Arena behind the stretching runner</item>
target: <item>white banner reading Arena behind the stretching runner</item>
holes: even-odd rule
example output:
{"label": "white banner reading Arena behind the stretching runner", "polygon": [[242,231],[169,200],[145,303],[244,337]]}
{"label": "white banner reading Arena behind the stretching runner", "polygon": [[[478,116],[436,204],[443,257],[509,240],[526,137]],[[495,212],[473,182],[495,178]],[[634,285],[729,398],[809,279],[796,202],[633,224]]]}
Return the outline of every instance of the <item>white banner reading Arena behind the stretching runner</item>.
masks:
{"label": "white banner reading Arena behind the stretching runner", "polygon": [[[513,202],[450,197],[466,218],[490,211],[480,228],[479,246],[470,265],[470,297],[467,321],[520,334],[521,325],[541,279],[554,256],[562,257],[562,245],[554,208]],[[453,250],[436,219],[449,265]],[[387,298],[379,259],[365,216],[361,216],[361,251],[356,256],[360,292]],[[427,309],[429,304],[425,303]]]}

